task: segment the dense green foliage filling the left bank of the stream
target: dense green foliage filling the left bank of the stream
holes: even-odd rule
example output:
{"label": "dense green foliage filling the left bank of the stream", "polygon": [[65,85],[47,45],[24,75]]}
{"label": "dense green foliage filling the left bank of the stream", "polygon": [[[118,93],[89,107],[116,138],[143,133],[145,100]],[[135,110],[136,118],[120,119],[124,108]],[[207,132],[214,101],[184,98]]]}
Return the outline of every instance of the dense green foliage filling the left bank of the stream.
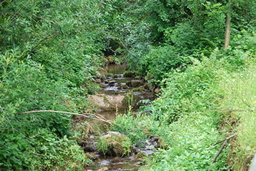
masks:
{"label": "dense green foliage filling the left bank of the stream", "polygon": [[110,3],[3,1],[0,10],[1,170],[83,170],[70,115],[22,113],[88,110],[109,44]]}

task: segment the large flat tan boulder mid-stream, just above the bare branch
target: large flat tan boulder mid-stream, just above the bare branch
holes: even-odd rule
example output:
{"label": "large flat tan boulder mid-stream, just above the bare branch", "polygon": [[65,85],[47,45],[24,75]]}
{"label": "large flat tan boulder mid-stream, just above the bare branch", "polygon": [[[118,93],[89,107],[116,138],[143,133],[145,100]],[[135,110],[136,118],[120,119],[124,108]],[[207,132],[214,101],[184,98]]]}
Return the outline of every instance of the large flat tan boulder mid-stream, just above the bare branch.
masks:
{"label": "large flat tan boulder mid-stream, just above the bare branch", "polygon": [[124,109],[125,106],[123,105],[122,101],[124,99],[124,95],[117,94],[117,95],[107,95],[107,94],[97,94],[97,95],[90,95],[89,101],[92,104],[95,104],[99,110],[103,111],[112,111],[118,109]]}

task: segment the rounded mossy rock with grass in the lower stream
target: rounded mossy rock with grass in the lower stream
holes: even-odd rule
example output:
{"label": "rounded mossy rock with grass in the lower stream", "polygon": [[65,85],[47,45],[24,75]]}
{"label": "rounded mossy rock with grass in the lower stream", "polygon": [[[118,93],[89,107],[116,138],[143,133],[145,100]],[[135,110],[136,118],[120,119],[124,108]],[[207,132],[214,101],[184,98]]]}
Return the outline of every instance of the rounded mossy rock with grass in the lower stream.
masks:
{"label": "rounded mossy rock with grass in the lower stream", "polygon": [[129,156],[131,147],[132,142],[129,137],[114,132],[99,137],[97,143],[98,151],[108,156]]}

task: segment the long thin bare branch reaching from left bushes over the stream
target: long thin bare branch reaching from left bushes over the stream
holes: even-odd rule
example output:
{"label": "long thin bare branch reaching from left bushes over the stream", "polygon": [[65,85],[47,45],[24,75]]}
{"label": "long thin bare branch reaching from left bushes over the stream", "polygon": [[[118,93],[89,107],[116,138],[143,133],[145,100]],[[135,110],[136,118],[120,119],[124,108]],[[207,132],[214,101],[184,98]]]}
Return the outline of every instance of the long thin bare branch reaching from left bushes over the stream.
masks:
{"label": "long thin bare branch reaching from left bushes over the stream", "polygon": [[18,114],[29,114],[29,113],[64,113],[64,114],[69,114],[69,115],[81,115],[84,116],[86,118],[91,118],[88,115],[93,115],[95,118],[95,120],[98,121],[104,121],[106,123],[110,123],[112,121],[107,120],[106,118],[104,118],[102,115],[99,114],[92,114],[92,113],[69,113],[69,112],[64,112],[64,111],[56,111],[56,110],[34,110],[34,111],[29,111],[29,112],[23,112],[23,113],[18,113]]}

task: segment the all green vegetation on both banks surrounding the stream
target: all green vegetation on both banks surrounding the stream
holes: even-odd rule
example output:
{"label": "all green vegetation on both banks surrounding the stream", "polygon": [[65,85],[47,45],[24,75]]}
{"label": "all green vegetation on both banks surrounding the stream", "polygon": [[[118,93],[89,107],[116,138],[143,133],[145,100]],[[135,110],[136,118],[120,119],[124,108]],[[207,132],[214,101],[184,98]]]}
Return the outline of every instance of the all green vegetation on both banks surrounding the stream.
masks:
{"label": "all green vegetation on both banks surrounding the stream", "polygon": [[[83,170],[90,160],[77,140],[89,125],[24,112],[93,111],[86,97],[113,61],[161,88],[142,113],[113,121],[129,137],[113,140],[119,156],[153,136],[167,147],[143,170],[248,168],[256,152],[256,1],[7,0],[0,11],[0,170]],[[126,103],[134,104],[132,93]],[[213,144],[232,134],[211,164],[222,143]],[[116,144],[101,139],[98,148]]]}

